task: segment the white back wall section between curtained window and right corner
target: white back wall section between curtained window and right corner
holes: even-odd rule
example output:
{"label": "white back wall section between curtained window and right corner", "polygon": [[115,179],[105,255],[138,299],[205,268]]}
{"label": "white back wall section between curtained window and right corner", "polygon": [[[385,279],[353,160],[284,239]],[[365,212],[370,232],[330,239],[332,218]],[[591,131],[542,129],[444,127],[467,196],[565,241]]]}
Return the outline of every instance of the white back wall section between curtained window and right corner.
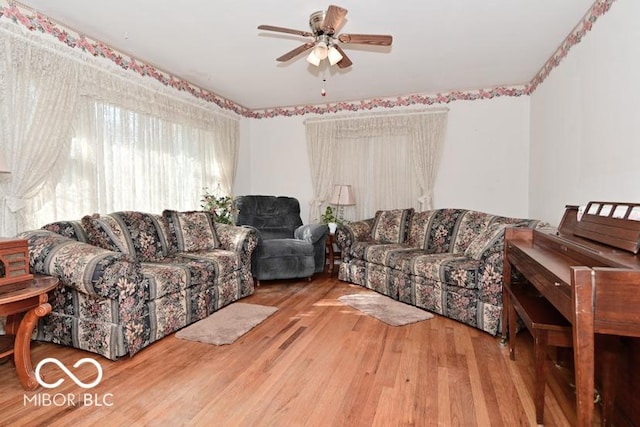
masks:
{"label": "white back wall section between curtained window and right corner", "polygon": [[450,104],[437,208],[527,217],[529,98]]}

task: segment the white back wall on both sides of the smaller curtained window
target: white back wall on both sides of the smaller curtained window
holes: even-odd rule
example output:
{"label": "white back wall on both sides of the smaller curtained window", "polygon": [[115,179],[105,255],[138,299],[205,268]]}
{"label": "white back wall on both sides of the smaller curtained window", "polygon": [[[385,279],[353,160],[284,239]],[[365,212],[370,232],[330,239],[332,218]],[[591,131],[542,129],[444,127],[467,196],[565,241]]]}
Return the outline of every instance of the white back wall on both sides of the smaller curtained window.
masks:
{"label": "white back wall on both sides of the smaller curtained window", "polygon": [[[526,217],[528,97],[458,101],[448,107],[447,138],[434,192],[435,206]],[[296,197],[306,223],[313,189],[304,119],[248,121],[250,148],[245,145],[240,150],[234,193]],[[245,127],[243,124],[243,132]],[[246,140],[244,135],[241,145]]]}

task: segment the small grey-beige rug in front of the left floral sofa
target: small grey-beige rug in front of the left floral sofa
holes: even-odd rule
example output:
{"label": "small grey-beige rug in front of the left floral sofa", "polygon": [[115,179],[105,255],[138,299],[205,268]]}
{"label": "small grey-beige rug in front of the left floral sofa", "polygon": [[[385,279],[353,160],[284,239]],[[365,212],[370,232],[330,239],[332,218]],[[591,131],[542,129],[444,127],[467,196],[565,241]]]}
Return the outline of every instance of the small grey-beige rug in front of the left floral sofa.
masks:
{"label": "small grey-beige rug in front of the left floral sofa", "polygon": [[231,344],[276,311],[277,307],[235,302],[179,330],[176,338],[205,344]]}

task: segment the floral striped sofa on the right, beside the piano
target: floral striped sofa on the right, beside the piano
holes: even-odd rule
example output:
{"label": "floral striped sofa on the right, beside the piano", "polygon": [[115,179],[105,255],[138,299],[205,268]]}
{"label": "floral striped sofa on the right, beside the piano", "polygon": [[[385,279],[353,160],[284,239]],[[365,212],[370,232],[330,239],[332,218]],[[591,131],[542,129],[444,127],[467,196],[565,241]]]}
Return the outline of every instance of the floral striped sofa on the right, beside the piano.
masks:
{"label": "floral striped sofa on the right, beside the piano", "polygon": [[338,227],[338,277],[497,335],[504,228],[540,225],[466,209],[378,211]]}

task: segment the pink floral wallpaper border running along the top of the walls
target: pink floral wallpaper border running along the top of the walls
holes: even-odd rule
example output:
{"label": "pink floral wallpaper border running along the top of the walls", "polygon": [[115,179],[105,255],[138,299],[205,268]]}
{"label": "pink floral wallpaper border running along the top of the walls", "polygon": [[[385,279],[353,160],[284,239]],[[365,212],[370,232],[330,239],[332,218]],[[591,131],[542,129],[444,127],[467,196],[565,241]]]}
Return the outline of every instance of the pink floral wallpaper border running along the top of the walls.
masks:
{"label": "pink floral wallpaper border running along the top of the walls", "polygon": [[329,114],[344,111],[367,111],[376,108],[396,108],[411,105],[448,104],[453,101],[473,101],[478,99],[490,99],[499,96],[530,95],[549,76],[551,71],[567,56],[569,50],[580,43],[587,32],[591,31],[598,18],[607,13],[616,0],[597,0],[586,13],[584,18],[574,27],[567,38],[562,42],[556,52],[547,60],[540,71],[527,85],[511,87],[495,87],[478,89],[475,91],[451,91],[437,94],[412,94],[397,98],[374,98],[358,102],[337,102],[324,105],[304,105],[298,107],[282,107],[261,110],[251,110],[235,102],[222,98],[213,92],[196,87],[191,83],[177,79],[164,73],[155,67],[136,61],[135,58],[126,58],[116,50],[101,42],[91,41],[83,35],[72,34],[59,25],[52,23],[49,18],[39,14],[22,11],[17,5],[10,4],[7,7],[0,6],[0,18],[8,18],[13,22],[25,26],[31,31],[50,34],[67,46],[81,49],[93,56],[107,58],[125,70],[131,70],[141,76],[156,79],[166,86],[188,92],[194,97],[216,104],[218,107],[232,111],[242,117],[263,119],[272,117],[293,117],[306,114]]}

